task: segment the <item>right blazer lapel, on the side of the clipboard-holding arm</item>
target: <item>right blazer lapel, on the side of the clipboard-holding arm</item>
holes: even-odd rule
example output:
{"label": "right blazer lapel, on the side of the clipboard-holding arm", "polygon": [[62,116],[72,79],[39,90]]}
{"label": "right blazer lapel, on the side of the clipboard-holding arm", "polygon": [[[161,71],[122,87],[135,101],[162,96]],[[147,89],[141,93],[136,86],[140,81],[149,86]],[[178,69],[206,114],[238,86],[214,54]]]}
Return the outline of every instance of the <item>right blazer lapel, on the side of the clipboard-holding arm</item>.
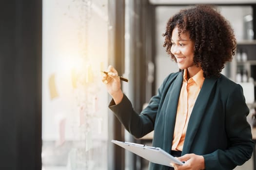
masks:
{"label": "right blazer lapel, on the side of the clipboard-holding arm", "polygon": [[191,145],[197,134],[201,119],[205,114],[206,106],[216,81],[217,78],[206,78],[204,80],[189,119],[182,155],[190,152]]}

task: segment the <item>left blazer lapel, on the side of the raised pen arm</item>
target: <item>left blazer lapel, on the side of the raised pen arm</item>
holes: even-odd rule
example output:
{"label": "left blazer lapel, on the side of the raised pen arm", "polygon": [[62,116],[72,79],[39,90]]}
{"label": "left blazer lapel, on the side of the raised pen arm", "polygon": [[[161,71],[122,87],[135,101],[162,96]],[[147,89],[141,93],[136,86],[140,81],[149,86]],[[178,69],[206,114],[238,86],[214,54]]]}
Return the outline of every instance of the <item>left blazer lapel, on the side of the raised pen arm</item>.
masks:
{"label": "left blazer lapel, on the side of the raised pen arm", "polygon": [[178,98],[180,94],[181,85],[183,82],[183,72],[177,75],[176,80],[174,81],[171,90],[168,91],[168,95],[166,98],[168,99],[168,103],[166,106],[166,118],[165,118],[165,126],[164,126],[164,148],[166,151],[171,151],[171,144],[173,141],[173,134],[175,121],[176,121],[176,114],[177,114],[177,105],[178,105]]}

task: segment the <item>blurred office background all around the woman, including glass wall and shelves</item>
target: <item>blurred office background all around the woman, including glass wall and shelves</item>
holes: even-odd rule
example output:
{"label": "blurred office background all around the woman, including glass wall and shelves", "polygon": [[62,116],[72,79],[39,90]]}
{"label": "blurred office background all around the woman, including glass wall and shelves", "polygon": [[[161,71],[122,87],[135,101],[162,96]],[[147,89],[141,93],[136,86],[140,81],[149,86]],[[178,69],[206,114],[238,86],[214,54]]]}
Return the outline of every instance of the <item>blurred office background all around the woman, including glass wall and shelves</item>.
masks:
{"label": "blurred office background all around the woman, including glass wall and shelves", "polygon": [[[162,47],[170,16],[197,3],[218,6],[237,53],[222,73],[241,84],[254,132],[256,0],[2,0],[0,170],[147,170],[112,139],[134,139],[108,109],[100,70],[113,65],[140,112],[178,70]],[[256,139],[256,135],[254,136]],[[255,153],[236,170],[256,170]]]}

